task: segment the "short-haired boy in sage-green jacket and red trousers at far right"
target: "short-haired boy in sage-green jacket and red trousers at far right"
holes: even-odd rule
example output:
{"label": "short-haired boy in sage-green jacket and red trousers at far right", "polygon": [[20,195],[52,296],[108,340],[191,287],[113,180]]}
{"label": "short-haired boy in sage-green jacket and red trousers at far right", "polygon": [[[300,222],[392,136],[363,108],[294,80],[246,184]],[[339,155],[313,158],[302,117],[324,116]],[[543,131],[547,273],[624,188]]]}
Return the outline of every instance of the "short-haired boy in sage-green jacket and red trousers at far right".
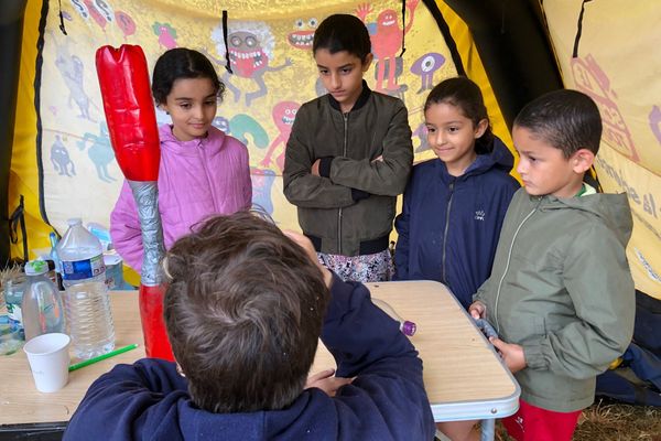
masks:
{"label": "short-haired boy in sage-green jacket and red trousers at far right", "polygon": [[469,312],[487,319],[491,342],[521,385],[503,420],[522,440],[571,440],[595,378],[631,340],[635,289],[625,249],[626,194],[583,183],[602,138],[595,103],[556,90],[525,106],[512,138],[524,189],[508,208],[490,278]]}

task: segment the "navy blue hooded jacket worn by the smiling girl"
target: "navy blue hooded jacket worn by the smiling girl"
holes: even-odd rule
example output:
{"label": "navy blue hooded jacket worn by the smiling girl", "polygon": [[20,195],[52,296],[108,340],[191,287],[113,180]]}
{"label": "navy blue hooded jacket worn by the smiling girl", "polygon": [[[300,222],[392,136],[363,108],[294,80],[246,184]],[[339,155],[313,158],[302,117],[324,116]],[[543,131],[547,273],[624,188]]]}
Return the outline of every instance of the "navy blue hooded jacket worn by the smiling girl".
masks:
{"label": "navy blue hooded jacket worn by the smiling girl", "polygon": [[440,281],[468,308],[491,273],[502,219],[519,189],[512,166],[498,138],[460,176],[440,159],[415,165],[394,222],[394,279]]}

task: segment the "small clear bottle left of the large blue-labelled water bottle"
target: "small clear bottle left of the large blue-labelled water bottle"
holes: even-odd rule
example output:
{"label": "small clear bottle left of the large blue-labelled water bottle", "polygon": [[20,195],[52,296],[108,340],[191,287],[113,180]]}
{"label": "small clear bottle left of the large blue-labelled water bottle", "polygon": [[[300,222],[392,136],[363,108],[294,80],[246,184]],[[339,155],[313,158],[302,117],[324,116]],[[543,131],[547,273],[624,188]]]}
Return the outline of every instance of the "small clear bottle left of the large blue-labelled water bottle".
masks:
{"label": "small clear bottle left of the large blue-labelled water bottle", "polygon": [[64,310],[57,287],[47,276],[48,263],[31,260],[25,263],[25,287],[21,311],[25,341],[51,332],[64,332]]}

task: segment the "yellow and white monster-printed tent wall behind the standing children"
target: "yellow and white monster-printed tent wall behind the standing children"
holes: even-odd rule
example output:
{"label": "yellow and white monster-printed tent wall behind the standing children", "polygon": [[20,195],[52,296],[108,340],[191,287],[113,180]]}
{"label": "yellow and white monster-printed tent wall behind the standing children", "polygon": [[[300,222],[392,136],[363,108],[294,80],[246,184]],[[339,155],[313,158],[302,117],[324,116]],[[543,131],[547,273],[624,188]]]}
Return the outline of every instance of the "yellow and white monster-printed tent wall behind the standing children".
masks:
{"label": "yellow and white monster-printed tent wall behind the standing children", "polygon": [[[422,104],[431,80],[435,84],[456,75],[449,50],[423,3],[409,1],[403,25],[400,1],[373,1],[368,10],[360,10],[361,4],[359,1],[319,4],[314,1],[115,0],[110,3],[72,0],[62,2],[68,33],[64,35],[58,29],[57,3],[46,2],[50,10],[43,30],[43,51],[37,53],[41,3],[30,1],[10,187],[10,207],[18,203],[20,194],[25,195],[30,248],[48,246],[51,227],[44,219],[61,234],[72,216],[108,225],[122,176],[110,150],[94,67],[95,51],[105,44],[140,44],[150,66],[163,51],[177,45],[205,52],[229,88],[218,108],[216,122],[245,140],[250,150],[253,202],[264,206],[281,226],[296,229],[295,209],[282,195],[281,157],[291,127],[282,121],[289,118],[291,123],[291,116],[300,104],[323,93],[316,85],[310,36],[316,24],[330,13],[362,13],[368,28],[377,34],[379,20],[388,13],[394,14],[398,30],[405,29],[407,52],[402,65],[395,66],[399,69],[397,88],[390,93],[404,99],[409,108],[409,120],[415,132],[415,160],[431,158],[422,128]],[[468,28],[445,3],[440,1],[437,6],[456,36],[468,76],[485,93],[495,132],[511,146]],[[230,36],[237,30],[257,36],[258,50],[262,51],[260,56],[266,58],[269,69],[240,65],[235,68],[235,75],[226,73],[220,20],[224,9],[229,14]],[[228,41],[231,46],[232,40]],[[393,53],[399,54],[401,46],[395,50]],[[35,83],[37,56],[41,72],[36,72]],[[426,63],[427,71],[421,71],[422,63]],[[370,87],[389,87],[375,78],[375,65],[366,75]],[[40,144],[35,110],[41,117]],[[158,119],[169,121],[160,111]],[[12,255],[20,256],[20,250],[13,247]]]}

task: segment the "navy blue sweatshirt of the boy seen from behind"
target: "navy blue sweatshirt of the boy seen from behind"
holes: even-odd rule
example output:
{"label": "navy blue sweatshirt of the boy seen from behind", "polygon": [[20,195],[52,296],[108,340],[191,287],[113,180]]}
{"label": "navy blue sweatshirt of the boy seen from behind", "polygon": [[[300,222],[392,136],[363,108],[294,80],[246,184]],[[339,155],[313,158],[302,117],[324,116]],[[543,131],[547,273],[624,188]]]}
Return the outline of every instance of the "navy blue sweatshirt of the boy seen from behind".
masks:
{"label": "navy blue sweatshirt of the boy seen from behind", "polygon": [[337,375],[357,376],[334,398],[312,388],[282,410],[212,413],[173,363],[144,358],[90,386],[64,440],[432,440],[422,361],[399,324],[360,283],[334,277],[330,292],[322,341]]}

